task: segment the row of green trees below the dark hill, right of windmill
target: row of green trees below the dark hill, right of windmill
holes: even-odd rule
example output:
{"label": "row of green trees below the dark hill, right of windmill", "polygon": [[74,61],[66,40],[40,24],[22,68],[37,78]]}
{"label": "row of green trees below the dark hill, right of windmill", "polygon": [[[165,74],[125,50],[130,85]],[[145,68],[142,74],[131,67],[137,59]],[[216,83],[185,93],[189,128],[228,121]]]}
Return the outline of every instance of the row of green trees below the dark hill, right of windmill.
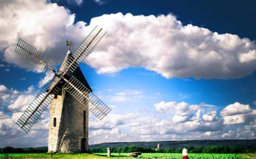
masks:
{"label": "row of green trees below the dark hill, right of windmill", "polygon": [[[211,146],[211,147],[185,147],[188,149],[188,153],[255,153],[256,147],[228,147],[228,146]],[[166,148],[166,149],[154,149],[143,148],[135,145],[129,147],[112,147],[110,148],[113,153],[130,153],[130,152],[142,152],[142,153],[181,153],[183,148]],[[106,148],[90,148],[90,153],[106,153]]]}

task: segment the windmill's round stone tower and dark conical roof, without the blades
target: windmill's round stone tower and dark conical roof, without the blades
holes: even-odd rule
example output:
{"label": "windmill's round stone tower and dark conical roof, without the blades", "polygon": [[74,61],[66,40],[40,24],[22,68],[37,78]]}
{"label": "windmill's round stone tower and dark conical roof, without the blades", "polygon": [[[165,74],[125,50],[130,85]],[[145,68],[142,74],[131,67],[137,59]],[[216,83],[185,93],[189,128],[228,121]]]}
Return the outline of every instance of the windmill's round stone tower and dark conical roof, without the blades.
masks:
{"label": "windmill's round stone tower and dark conical roof, without the blades", "polygon": [[[63,63],[71,55],[71,51],[68,50]],[[92,92],[79,67],[72,75]],[[64,89],[61,89],[50,104],[48,152],[88,151],[88,114],[88,108],[85,108]]]}

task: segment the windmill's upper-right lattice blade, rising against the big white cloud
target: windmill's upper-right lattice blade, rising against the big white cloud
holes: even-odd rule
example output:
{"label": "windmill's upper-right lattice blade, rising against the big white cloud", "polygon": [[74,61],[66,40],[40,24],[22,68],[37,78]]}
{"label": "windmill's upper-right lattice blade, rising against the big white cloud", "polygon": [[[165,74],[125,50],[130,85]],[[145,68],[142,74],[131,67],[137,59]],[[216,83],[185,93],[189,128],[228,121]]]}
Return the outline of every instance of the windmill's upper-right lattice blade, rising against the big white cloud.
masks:
{"label": "windmill's upper-right lattice blade, rising against the big white cloud", "polygon": [[[100,27],[96,27],[89,34],[88,37],[82,42],[82,44],[76,49],[76,51],[72,54],[72,56],[65,62],[65,67],[67,67],[67,71],[75,71],[76,68],[80,65],[82,61],[84,61],[85,57],[92,51],[94,46],[98,44],[101,38],[105,35],[106,31],[102,30]],[[66,72],[67,72],[66,71]]]}

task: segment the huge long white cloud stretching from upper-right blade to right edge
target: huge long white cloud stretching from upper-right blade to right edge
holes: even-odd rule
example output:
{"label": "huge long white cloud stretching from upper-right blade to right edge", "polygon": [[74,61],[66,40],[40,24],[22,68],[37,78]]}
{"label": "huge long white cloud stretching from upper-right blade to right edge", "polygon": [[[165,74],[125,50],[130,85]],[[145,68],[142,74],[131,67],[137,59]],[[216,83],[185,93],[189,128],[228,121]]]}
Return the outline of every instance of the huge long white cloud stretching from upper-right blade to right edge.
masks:
{"label": "huge long white cloud stretching from upper-right blade to right edge", "polygon": [[92,24],[108,31],[86,59],[99,74],[144,67],[166,78],[225,79],[250,75],[256,68],[253,41],[191,24],[183,26],[171,14],[118,13],[93,18]]}

